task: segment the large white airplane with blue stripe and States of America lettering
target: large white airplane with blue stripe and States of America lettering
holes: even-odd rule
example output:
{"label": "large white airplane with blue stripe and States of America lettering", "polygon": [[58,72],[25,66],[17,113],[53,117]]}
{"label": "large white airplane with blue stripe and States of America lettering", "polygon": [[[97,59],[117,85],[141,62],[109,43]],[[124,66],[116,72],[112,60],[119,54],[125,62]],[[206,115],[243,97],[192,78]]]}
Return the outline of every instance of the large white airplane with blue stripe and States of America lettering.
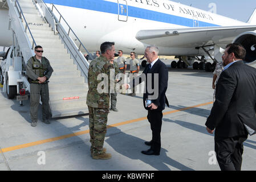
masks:
{"label": "large white airplane with blue stripe and States of America lettering", "polygon": [[[12,44],[12,33],[5,0],[1,1],[0,46],[7,47]],[[241,22],[169,0],[44,2],[50,9],[51,4],[56,6],[88,51],[96,51],[101,43],[109,41],[124,53],[143,55],[145,47],[153,44],[161,55],[210,56],[216,63],[222,60],[225,46],[236,42],[247,51],[246,63],[256,66],[256,9],[247,22]],[[184,65],[182,60],[174,62],[171,67]],[[206,70],[211,67],[206,64]]]}

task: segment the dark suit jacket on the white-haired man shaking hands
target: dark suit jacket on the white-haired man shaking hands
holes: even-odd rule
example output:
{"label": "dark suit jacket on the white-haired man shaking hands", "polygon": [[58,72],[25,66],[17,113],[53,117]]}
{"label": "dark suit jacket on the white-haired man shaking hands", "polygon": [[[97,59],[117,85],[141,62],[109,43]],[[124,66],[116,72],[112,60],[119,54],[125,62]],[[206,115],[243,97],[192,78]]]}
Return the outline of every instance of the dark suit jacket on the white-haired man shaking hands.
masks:
{"label": "dark suit jacket on the white-haired man shaking hands", "polygon": [[[153,104],[157,105],[158,108],[157,110],[164,110],[165,109],[165,104],[168,105],[169,107],[169,103],[168,100],[165,96],[165,92],[166,89],[168,87],[168,68],[166,67],[166,65],[164,63],[162,63],[162,61],[159,59],[156,61],[156,63],[153,65],[153,67],[151,69],[149,69],[149,65],[148,64],[144,71],[143,74],[141,74],[140,76],[137,76],[135,79],[133,79],[132,85],[133,86],[137,86],[139,84],[141,84],[142,81],[145,81],[145,89],[146,92],[143,94],[143,105],[145,107],[145,109],[150,110],[149,107],[145,106],[145,100],[147,100],[149,98],[149,96],[152,96],[153,94],[156,93],[151,93],[147,88],[148,88],[148,84],[150,82],[148,74],[152,73],[152,77],[151,77],[151,88],[152,90],[157,90],[158,91],[158,96],[156,99],[152,100]],[[157,73],[159,74],[159,85],[158,88],[154,89],[154,74]],[[146,80],[143,80],[143,75],[145,75]]]}

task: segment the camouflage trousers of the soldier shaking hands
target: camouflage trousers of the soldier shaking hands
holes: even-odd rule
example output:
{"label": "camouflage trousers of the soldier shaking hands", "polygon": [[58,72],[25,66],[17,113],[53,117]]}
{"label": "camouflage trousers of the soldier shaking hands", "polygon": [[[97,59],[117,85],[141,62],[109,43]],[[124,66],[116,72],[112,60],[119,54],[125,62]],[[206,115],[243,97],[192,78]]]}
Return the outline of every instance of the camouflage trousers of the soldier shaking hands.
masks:
{"label": "camouflage trousers of the soldier shaking hands", "polygon": [[90,142],[92,154],[103,154],[103,144],[107,133],[109,108],[88,106],[90,119]]}

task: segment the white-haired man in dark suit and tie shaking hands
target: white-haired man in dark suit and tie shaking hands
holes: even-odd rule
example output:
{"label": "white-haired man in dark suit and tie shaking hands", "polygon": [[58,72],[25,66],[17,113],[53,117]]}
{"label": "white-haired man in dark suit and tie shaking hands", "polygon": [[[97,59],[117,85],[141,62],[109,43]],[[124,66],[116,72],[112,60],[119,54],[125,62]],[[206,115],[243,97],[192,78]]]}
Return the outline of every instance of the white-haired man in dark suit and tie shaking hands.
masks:
{"label": "white-haired man in dark suit and tie shaking hands", "polygon": [[[148,110],[147,118],[152,130],[152,140],[145,142],[151,148],[147,151],[141,151],[145,155],[160,155],[162,110],[165,109],[165,103],[169,107],[165,96],[168,86],[168,68],[159,59],[158,54],[159,48],[148,46],[145,49],[145,57],[149,64],[145,67],[141,76],[137,76],[129,83],[129,85],[135,87],[145,81],[146,92],[143,94],[143,104],[145,109]],[[145,76],[145,80],[143,80],[143,76]]]}

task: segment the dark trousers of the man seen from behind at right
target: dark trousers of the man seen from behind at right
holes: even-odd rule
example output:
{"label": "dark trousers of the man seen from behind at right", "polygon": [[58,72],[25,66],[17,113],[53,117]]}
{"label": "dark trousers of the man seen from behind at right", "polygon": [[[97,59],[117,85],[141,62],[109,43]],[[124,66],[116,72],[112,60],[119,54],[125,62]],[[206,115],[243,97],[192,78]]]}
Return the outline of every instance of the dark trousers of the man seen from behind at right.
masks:
{"label": "dark trousers of the man seen from behind at right", "polygon": [[221,171],[241,171],[243,142],[248,135],[215,137],[215,151]]}

